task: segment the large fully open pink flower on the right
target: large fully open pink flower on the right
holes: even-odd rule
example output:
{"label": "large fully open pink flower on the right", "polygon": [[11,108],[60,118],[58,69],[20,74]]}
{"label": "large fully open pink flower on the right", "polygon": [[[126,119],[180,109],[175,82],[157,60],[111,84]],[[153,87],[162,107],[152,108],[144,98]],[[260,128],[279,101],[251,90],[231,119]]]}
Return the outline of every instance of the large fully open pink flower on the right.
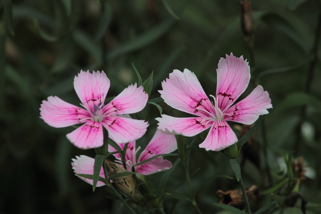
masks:
{"label": "large fully open pink flower on the right", "polygon": [[[246,90],[250,81],[250,67],[243,56],[230,54],[218,64],[216,96],[206,96],[194,73],[174,70],[169,79],[162,82],[161,98],[169,106],[198,117],[176,118],[167,115],[156,118],[158,129],[164,133],[194,136],[210,128],[199,145],[206,150],[219,151],[238,141],[226,121],[253,124],[259,115],[268,114],[272,108],[269,93],[258,85],[246,98],[233,105]],[[232,106],[233,105],[233,106]]]}

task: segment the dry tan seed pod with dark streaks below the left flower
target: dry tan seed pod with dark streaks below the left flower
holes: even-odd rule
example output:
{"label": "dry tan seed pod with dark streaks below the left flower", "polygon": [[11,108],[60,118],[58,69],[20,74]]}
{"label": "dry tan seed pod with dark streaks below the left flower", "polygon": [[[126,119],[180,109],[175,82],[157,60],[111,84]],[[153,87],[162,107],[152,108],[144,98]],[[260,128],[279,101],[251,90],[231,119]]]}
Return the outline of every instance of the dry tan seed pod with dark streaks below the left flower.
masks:
{"label": "dry tan seed pod with dark streaks below the left flower", "polygon": [[[121,165],[111,162],[109,160],[106,161],[108,176],[114,175],[120,172],[127,172]],[[136,195],[136,183],[132,175],[126,175],[123,177],[118,177],[112,179],[113,183],[117,186],[118,189],[123,191],[126,195],[131,198],[137,198]]]}

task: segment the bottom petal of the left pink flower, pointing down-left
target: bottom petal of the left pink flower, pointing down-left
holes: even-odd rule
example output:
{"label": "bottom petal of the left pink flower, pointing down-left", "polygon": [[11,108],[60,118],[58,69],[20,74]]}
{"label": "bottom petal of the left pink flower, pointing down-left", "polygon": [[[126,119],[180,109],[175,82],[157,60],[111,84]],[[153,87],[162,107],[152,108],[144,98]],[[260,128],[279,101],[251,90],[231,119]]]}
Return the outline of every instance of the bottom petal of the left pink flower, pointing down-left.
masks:
{"label": "bottom petal of the left pink flower, pointing down-left", "polygon": [[97,148],[104,143],[102,125],[95,121],[86,122],[66,136],[72,144],[80,149]]}

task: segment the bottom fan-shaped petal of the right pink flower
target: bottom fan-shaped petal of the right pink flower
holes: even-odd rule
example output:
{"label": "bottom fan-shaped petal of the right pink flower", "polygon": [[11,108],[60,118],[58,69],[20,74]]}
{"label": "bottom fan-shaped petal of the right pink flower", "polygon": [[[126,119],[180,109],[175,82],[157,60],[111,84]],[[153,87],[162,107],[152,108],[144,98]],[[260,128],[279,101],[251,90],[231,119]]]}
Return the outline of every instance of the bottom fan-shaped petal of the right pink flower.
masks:
{"label": "bottom fan-shaped petal of the right pink flower", "polygon": [[238,138],[226,121],[221,121],[220,125],[217,121],[215,121],[214,125],[207,134],[207,137],[203,143],[199,144],[199,147],[205,148],[206,151],[220,151],[236,143],[237,141]]}

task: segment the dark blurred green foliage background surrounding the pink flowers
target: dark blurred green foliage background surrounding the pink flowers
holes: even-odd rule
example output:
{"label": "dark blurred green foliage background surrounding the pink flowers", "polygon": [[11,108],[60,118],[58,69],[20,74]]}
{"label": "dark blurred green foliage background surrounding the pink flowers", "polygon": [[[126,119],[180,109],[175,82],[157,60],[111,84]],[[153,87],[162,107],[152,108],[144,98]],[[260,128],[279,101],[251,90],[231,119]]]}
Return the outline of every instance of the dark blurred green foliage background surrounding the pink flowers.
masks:
{"label": "dark blurred green foliage background surrounding the pink flowers", "polygon": [[[243,55],[251,68],[252,81],[241,98],[261,84],[273,104],[263,120],[266,136],[259,129],[253,145],[244,147],[239,156],[245,186],[264,189],[279,182],[286,176],[281,155],[293,151],[295,158],[304,157],[309,169],[310,178],[300,188],[309,201],[308,213],[321,213],[320,1],[253,1],[252,49],[251,35],[242,33],[238,0],[171,0],[180,20],[161,0],[10,2],[0,1],[1,214],[127,213],[126,208],[117,210],[119,201],[105,197],[104,187],[93,193],[91,185],[74,175],[71,158],[94,157],[95,151],[67,141],[65,135],[73,128],[52,128],[39,118],[40,103],[48,96],[79,104],[73,79],[81,69],[107,73],[111,82],[107,97],[138,81],[132,63],[143,81],[154,71],[150,98],[160,96],[161,81],[173,69],[184,68],[195,72],[207,94],[215,94],[217,63],[231,52]],[[158,104],[165,114],[186,116]],[[159,116],[152,105],[141,112],[139,119],[148,120],[150,126],[139,145],[151,139],[154,118]],[[231,125],[240,137],[242,126]],[[197,138],[190,158],[191,172],[199,168],[192,177],[194,188],[213,175],[234,177],[227,158],[198,148],[199,143]],[[179,158],[168,159],[174,163]],[[163,175],[150,176],[156,187]],[[186,184],[177,188],[186,179],[181,162],[169,176],[166,189],[187,194]],[[238,187],[236,179],[207,182],[196,195],[200,210],[221,212],[211,205],[220,201],[216,191]],[[259,203],[270,200],[264,196]],[[164,198],[165,211],[172,201]],[[188,201],[179,201],[174,213],[195,211]],[[283,213],[301,211],[291,208]]]}

